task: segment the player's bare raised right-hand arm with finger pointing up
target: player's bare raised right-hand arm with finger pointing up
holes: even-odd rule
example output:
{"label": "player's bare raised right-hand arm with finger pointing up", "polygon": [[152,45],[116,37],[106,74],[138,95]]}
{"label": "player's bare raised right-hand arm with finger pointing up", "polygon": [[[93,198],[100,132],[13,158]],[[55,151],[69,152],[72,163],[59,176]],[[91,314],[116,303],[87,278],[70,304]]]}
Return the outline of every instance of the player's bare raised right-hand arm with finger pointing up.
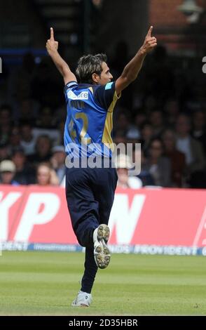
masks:
{"label": "player's bare raised right-hand arm with finger pointing up", "polygon": [[152,29],[153,27],[150,27],[149,32],[146,34],[146,38],[144,39],[144,44],[141,48],[139,48],[139,51],[135,57],[132,58],[128,65],[125,66],[123,73],[116,80],[115,88],[117,94],[121,93],[123,89],[125,89],[137,78],[146,54],[157,46],[156,37],[151,37]]}

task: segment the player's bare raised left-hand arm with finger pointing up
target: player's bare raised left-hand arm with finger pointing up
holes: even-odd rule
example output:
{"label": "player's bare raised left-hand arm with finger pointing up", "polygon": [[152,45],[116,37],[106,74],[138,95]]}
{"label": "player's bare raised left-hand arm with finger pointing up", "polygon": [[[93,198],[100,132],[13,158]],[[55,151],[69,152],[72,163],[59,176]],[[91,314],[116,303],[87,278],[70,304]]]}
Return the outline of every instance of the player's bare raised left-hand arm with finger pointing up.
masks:
{"label": "player's bare raised left-hand arm with finger pointing up", "polygon": [[69,65],[67,65],[58,53],[58,42],[55,41],[53,27],[50,27],[50,39],[46,43],[46,49],[57,69],[60,71],[60,74],[62,74],[64,84],[67,84],[69,81],[76,81],[76,77],[69,69]]}

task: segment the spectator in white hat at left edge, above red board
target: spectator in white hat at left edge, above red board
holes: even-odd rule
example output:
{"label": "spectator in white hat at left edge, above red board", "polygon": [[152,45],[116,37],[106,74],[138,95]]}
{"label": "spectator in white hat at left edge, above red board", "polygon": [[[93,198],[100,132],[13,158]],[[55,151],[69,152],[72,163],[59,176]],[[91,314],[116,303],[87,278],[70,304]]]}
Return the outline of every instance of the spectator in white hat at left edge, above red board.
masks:
{"label": "spectator in white hat at left edge, above red board", "polygon": [[0,163],[0,183],[1,185],[19,185],[14,180],[15,164],[9,159],[5,159]]}

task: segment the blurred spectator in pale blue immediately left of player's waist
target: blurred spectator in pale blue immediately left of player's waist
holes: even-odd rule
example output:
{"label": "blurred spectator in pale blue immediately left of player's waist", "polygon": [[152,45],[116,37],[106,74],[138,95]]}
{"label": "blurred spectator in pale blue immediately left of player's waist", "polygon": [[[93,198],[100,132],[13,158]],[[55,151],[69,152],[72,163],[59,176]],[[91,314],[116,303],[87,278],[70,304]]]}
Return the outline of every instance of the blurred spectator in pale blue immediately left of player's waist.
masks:
{"label": "blurred spectator in pale blue immediately left of player's waist", "polygon": [[57,178],[59,179],[60,185],[62,183],[62,180],[64,179],[65,173],[66,173],[66,166],[65,166],[65,150],[63,145],[56,145],[52,149],[53,156],[50,159],[50,163],[53,166],[53,169],[55,170],[57,174]]}

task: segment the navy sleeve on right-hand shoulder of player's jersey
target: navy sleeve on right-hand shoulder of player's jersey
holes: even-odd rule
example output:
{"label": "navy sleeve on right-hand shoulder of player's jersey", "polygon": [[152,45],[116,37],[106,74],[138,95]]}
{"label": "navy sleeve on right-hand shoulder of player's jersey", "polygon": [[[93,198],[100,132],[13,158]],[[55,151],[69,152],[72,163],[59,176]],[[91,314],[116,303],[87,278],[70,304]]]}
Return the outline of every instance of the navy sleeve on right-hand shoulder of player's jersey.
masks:
{"label": "navy sleeve on right-hand shoulder of player's jersey", "polygon": [[115,81],[112,81],[105,86],[99,85],[94,89],[95,102],[105,110],[108,110],[109,106],[114,100],[114,93],[116,92]]}

